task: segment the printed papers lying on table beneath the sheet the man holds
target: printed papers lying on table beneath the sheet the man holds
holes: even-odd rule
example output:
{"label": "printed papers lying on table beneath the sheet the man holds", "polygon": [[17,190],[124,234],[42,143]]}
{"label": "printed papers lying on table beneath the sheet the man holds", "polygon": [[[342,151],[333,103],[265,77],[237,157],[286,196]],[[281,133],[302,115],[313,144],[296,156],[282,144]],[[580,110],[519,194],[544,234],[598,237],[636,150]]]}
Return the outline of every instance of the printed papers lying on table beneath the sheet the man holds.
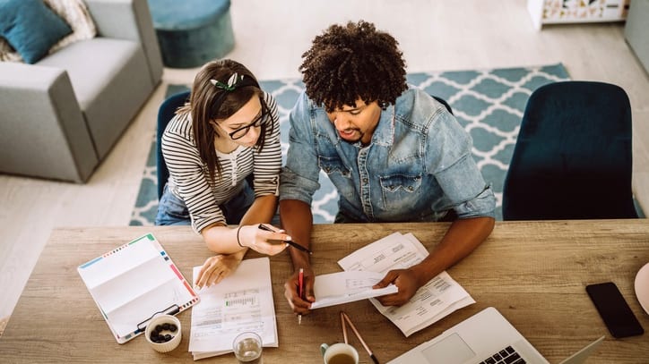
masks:
{"label": "printed papers lying on table beneath the sheet the man holds", "polygon": [[[427,256],[428,250],[414,235],[393,233],[354,251],[338,264],[346,271],[367,270],[385,275],[392,269],[414,266]],[[432,325],[456,309],[475,303],[446,271],[421,286],[411,301],[401,307],[385,307],[375,299],[370,301],[406,336]]]}

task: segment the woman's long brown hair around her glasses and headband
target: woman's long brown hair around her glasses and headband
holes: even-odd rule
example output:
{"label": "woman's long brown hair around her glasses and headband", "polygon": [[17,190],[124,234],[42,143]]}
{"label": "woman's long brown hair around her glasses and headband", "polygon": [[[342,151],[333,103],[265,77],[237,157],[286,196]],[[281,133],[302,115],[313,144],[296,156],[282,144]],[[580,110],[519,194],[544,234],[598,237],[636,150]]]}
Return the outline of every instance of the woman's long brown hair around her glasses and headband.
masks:
{"label": "woman's long brown hair around her glasses and headband", "polygon": [[[212,80],[228,84],[229,78],[235,72],[239,77],[243,75],[244,80],[247,80],[240,83],[240,87],[235,85],[234,89],[227,90],[212,84]],[[255,75],[243,64],[223,59],[203,65],[194,79],[189,103],[178,110],[178,113],[189,112],[192,115],[196,147],[201,159],[207,165],[212,184],[217,174],[221,176],[221,164],[216,156],[214,139],[229,138],[229,135],[216,131],[210,122],[229,118],[255,96],[259,97],[263,110],[267,110],[264,92],[259,88]],[[266,114],[264,117],[270,118],[271,116]],[[261,148],[264,145],[268,126],[268,123],[262,123],[262,131],[255,144],[256,148]],[[272,127],[272,123],[270,127]]]}

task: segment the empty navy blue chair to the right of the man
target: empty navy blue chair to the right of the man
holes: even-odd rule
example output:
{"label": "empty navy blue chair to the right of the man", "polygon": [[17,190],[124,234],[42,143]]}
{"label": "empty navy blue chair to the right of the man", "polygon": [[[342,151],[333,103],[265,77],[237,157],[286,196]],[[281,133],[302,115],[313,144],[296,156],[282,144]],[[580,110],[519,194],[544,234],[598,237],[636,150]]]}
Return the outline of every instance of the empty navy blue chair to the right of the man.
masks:
{"label": "empty navy blue chair to the right of the man", "polygon": [[618,86],[564,81],[536,89],[507,170],[503,218],[636,218],[631,130]]}

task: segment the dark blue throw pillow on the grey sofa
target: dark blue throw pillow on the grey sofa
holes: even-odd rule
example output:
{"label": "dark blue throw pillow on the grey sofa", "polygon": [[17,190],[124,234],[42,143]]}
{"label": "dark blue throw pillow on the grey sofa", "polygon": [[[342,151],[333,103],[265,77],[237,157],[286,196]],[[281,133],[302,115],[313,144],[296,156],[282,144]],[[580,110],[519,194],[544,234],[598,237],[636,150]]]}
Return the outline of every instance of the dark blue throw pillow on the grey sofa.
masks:
{"label": "dark blue throw pillow on the grey sofa", "polygon": [[22,55],[37,63],[72,29],[42,0],[0,0],[0,35]]}

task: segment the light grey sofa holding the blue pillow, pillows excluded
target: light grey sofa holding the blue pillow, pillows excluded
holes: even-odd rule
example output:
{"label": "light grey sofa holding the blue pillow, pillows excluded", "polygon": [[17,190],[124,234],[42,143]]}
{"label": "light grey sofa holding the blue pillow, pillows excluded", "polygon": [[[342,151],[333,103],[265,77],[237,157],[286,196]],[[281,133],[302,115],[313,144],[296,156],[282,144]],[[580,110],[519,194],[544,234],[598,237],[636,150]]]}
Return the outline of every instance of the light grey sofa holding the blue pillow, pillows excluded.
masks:
{"label": "light grey sofa holding the blue pillow, pillows excluded", "polygon": [[147,0],[86,0],[96,38],[0,62],[0,173],[85,182],[162,76]]}

